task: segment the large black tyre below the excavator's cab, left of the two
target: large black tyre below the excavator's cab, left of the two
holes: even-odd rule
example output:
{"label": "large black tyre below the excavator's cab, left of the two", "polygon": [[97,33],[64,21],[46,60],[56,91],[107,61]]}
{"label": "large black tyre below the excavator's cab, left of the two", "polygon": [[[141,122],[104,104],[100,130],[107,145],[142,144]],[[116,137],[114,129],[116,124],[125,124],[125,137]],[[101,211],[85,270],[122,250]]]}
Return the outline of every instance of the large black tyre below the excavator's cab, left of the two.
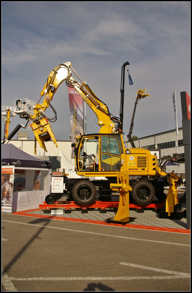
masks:
{"label": "large black tyre below the excavator's cab, left of the two", "polygon": [[97,189],[92,182],[80,180],[73,186],[71,195],[79,205],[89,205],[95,200]]}

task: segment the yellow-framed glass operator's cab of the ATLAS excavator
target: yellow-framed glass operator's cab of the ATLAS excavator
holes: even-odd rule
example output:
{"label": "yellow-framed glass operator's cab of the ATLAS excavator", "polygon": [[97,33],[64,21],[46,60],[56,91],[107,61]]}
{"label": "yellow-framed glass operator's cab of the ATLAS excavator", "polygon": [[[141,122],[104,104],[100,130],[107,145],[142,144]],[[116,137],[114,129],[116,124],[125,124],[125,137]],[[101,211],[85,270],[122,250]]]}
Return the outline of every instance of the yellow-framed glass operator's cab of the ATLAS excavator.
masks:
{"label": "yellow-framed glass operator's cab of the ATLAS excavator", "polygon": [[123,154],[121,135],[83,135],[75,152],[78,173],[92,172],[91,175],[93,176],[94,172],[94,176],[98,176],[97,174],[102,172],[105,176],[106,172],[116,174],[116,171],[121,169],[121,154]]}

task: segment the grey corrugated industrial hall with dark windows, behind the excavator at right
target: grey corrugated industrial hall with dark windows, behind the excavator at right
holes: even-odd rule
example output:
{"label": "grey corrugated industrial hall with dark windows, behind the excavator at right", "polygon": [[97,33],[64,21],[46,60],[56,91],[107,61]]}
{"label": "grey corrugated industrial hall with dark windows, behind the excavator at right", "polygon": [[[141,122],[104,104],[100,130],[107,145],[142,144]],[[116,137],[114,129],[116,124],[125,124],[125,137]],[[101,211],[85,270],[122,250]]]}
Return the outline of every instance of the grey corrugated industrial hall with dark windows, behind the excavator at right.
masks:
{"label": "grey corrugated industrial hall with dark windows, behind the excavator at right", "polygon": [[[131,148],[130,142],[124,142],[126,148]],[[178,135],[178,146],[176,139],[176,130],[169,130],[165,132],[160,132],[157,134],[140,137],[134,140],[136,147],[141,147],[143,149],[160,149],[161,157],[163,156],[173,156],[174,153],[182,154],[184,153],[183,145],[183,130],[179,127]],[[185,174],[185,164],[180,164],[179,166],[166,166],[166,172],[170,173],[174,170],[174,173]]]}

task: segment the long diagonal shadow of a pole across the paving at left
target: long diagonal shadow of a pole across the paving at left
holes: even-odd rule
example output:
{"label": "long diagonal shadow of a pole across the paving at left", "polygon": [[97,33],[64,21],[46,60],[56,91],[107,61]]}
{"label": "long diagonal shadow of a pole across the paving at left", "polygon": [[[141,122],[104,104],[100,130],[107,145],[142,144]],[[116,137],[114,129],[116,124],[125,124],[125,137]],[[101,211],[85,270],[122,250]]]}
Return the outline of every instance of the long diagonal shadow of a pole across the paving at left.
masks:
{"label": "long diagonal shadow of a pole across the paving at left", "polygon": [[51,219],[36,219],[34,221],[29,222],[29,224],[42,224],[43,227],[38,227],[37,226],[37,232],[35,233],[35,235],[32,235],[32,237],[27,241],[27,243],[25,243],[25,245],[23,245],[23,247],[20,249],[20,251],[12,258],[12,260],[6,265],[6,267],[4,268],[5,272],[8,272],[8,270],[14,265],[14,263],[17,261],[17,259],[25,252],[25,250],[28,248],[28,246],[36,239],[42,239],[41,237],[39,237],[42,229],[44,229],[48,223],[50,222]]}

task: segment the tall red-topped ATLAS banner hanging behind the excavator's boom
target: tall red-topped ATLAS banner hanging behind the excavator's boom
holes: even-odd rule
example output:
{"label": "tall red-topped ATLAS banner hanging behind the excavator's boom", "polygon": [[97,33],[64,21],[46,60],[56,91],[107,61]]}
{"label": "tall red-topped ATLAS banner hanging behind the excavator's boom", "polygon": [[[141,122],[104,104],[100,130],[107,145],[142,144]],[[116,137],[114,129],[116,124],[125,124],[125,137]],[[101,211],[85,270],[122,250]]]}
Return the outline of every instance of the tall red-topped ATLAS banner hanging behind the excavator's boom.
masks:
{"label": "tall red-topped ATLAS banner hanging behind the excavator's boom", "polygon": [[[75,143],[75,137],[83,135],[83,99],[75,90],[69,88],[69,109],[71,122],[71,142]],[[74,148],[72,148],[71,159],[75,159]]]}

